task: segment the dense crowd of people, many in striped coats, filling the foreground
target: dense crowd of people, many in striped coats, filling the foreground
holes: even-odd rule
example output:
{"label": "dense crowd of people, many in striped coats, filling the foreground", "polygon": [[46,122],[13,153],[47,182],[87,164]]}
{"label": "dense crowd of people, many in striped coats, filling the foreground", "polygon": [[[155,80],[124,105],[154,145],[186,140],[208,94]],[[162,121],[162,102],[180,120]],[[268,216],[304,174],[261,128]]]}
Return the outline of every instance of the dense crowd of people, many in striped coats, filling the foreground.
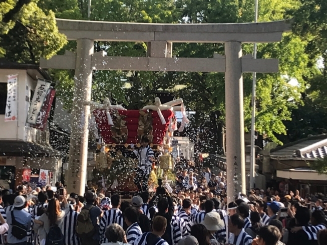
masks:
{"label": "dense crowd of people, many in striped coats, filling the foreground", "polygon": [[224,174],[191,167],[176,171],[172,191],[158,186],[131,200],[102,189],[79,196],[19,186],[2,190],[0,244],[327,244],[326,203],[275,194],[254,189],[227,203]]}

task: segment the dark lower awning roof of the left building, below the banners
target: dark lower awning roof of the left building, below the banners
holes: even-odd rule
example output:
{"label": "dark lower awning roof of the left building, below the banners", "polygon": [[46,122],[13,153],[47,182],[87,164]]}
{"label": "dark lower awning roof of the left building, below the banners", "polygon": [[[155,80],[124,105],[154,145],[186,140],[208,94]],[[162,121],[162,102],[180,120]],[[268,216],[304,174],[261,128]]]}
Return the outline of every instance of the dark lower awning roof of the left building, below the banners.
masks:
{"label": "dark lower awning roof of the left building, below the banners", "polygon": [[65,152],[55,150],[52,147],[23,141],[0,139],[0,156],[25,156],[25,157],[59,157],[66,155]]}

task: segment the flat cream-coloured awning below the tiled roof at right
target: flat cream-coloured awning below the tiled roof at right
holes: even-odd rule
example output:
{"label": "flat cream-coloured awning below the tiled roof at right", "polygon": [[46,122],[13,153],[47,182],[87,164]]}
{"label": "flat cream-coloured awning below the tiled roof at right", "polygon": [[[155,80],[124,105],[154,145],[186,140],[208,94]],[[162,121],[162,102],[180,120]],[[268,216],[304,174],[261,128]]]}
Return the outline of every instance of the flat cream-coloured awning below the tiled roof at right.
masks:
{"label": "flat cream-coloured awning below the tiled roof at right", "polygon": [[277,177],[298,180],[327,180],[327,175],[307,167],[277,170]]}

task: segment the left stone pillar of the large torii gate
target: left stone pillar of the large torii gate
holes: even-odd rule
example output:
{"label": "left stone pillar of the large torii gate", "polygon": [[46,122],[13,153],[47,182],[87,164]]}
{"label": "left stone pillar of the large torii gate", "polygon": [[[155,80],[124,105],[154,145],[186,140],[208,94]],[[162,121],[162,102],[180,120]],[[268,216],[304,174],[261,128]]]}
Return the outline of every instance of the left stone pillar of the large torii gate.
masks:
{"label": "left stone pillar of the large torii gate", "polygon": [[84,195],[87,176],[90,106],[84,105],[84,101],[91,100],[93,52],[94,40],[77,40],[69,166],[66,180],[68,190],[79,195]]}

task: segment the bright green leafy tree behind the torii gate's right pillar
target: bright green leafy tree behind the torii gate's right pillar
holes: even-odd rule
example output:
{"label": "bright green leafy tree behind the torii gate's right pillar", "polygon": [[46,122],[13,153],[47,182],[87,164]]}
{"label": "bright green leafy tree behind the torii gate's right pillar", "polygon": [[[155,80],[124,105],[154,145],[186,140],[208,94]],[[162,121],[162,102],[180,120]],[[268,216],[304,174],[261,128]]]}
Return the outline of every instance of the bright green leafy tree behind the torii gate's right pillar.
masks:
{"label": "bright green leafy tree behind the torii gate's right pillar", "polygon": [[[251,22],[253,20],[253,1],[209,1],[178,0],[182,10],[181,20],[189,23],[212,22]],[[297,0],[261,0],[259,1],[259,21],[282,19],[289,9],[299,6]],[[214,52],[224,54],[221,44],[177,44],[176,56],[212,57]],[[279,72],[257,74],[257,112],[256,130],[265,134],[270,140],[281,143],[275,134],[284,134],[285,120],[290,119],[290,110],[297,106],[300,92],[303,91],[303,76],[309,75],[306,42],[293,33],[285,33],[279,43],[258,45],[258,58],[279,58]],[[252,45],[243,44],[244,54],[252,52]],[[186,84],[180,91],[186,104],[197,113],[211,117],[224,125],[224,76],[219,73],[179,73],[176,83]],[[243,74],[244,79],[244,119],[246,130],[250,126],[251,74]],[[299,86],[288,84],[296,79]],[[200,117],[203,117],[202,115]],[[214,124],[213,124],[214,125]],[[212,131],[215,127],[212,126]],[[217,134],[221,134],[218,132]],[[221,140],[216,138],[221,142]]]}

